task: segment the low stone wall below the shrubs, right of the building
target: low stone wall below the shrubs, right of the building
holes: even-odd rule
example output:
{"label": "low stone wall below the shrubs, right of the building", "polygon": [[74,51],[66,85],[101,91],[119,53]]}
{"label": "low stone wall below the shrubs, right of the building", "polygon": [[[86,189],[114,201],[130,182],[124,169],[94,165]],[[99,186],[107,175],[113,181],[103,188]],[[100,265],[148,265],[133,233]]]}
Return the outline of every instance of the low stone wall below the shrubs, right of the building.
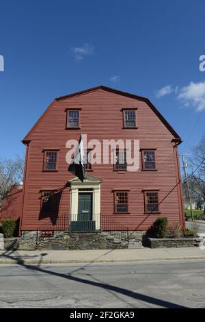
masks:
{"label": "low stone wall below the shrubs, right of the building", "polygon": [[199,247],[202,238],[148,238],[151,248]]}

